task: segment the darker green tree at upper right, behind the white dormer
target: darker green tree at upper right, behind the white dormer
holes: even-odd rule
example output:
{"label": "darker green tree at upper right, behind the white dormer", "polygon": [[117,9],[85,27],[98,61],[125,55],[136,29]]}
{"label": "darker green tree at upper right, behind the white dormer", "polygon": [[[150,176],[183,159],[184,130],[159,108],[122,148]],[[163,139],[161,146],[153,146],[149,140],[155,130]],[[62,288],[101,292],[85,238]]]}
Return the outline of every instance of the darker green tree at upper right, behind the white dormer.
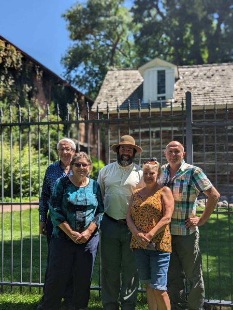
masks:
{"label": "darker green tree at upper right, behind the white dormer", "polygon": [[177,65],[233,60],[233,0],[135,0],[138,65],[160,57]]}

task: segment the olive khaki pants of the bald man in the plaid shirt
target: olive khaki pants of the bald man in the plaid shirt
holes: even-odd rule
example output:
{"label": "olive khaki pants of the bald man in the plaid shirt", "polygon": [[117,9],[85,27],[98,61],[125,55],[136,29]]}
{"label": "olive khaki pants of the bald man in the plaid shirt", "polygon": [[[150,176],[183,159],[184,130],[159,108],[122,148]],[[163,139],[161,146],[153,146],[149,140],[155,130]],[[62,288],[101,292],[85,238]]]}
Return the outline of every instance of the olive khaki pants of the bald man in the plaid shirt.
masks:
{"label": "olive khaki pants of the bald man in the plaid shirt", "polygon": [[[186,298],[185,284],[190,291]],[[172,310],[201,310],[204,305],[204,281],[199,233],[172,235],[172,254],[168,269],[168,293]]]}

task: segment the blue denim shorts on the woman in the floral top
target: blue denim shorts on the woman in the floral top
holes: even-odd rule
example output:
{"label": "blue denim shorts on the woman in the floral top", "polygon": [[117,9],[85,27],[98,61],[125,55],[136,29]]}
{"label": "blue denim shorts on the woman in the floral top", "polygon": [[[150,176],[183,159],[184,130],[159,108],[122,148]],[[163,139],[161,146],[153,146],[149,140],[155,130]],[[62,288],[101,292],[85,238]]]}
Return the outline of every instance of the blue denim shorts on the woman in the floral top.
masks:
{"label": "blue denim shorts on the woman in the floral top", "polygon": [[134,255],[140,282],[155,290],[166,291],[170,253],[134,248]]}

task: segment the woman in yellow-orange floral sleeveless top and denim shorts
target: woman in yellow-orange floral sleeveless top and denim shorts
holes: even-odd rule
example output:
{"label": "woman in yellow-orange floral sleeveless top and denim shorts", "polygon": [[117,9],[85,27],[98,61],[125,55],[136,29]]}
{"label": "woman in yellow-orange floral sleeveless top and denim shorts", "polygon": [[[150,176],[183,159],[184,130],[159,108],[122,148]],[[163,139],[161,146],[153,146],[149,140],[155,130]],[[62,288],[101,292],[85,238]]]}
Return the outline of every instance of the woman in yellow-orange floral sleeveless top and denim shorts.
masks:
{"label": "woman in yellow-orange floral sleeveless top and denim shorts", "polygon": [[170,310],[167,290],[167,270],[170,261],[171,233],[169,223],[174,199],[169,187],[160,187],[160,164],[152,158],[143,167],[146,184],[132,195],[127,224],[132,233],[139,278],[146,284],[149,310]]}

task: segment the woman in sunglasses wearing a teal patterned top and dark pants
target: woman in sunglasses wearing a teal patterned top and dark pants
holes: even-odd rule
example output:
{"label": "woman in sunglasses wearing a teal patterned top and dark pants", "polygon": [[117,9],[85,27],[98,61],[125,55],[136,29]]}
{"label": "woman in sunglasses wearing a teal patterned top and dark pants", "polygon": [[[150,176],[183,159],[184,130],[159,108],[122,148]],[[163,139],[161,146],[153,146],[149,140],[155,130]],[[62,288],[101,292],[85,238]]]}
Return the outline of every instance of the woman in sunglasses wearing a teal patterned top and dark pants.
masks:
{"label": "woman in sunglasses wearing a teal patterned top and dark pants", "polygon": [[87,177],[91,168],[90,157],[76,153],[71,161],[73,174],[58,179],[53,189],[49,212],[54,228],[44,310],[59,309],[71,269],[73,298],[69,309],[82,310],[88,304],[104,212],[100,186]]}

